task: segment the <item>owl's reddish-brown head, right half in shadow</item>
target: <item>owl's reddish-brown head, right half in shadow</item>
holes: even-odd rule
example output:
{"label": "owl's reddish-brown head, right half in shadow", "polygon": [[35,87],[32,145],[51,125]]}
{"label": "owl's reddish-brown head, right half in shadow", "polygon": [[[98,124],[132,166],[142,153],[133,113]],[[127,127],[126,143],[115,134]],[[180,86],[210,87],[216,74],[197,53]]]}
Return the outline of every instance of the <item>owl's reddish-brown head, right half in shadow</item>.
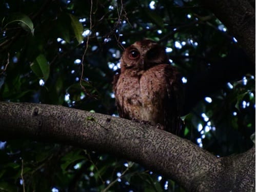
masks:
{"label": "owl's reddish-brown head, right half in shadow", "polygon": [[127,68],[147,70],[152,66],[169,63],[165,48],[154,41],[137,41],[125,49],[121,57],[121,71]]}

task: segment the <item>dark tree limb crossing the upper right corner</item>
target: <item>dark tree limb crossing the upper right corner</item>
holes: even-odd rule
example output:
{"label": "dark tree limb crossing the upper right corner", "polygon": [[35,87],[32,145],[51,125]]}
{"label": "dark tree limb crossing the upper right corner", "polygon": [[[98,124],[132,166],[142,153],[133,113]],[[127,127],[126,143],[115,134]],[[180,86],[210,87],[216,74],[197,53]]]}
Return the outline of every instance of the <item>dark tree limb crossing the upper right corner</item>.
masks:
{"label": "dark tree limb crossing the upper right corner", "polygon": [[255,1],[205,0],[201,2],[234,35],[251,62],[255,62]]}

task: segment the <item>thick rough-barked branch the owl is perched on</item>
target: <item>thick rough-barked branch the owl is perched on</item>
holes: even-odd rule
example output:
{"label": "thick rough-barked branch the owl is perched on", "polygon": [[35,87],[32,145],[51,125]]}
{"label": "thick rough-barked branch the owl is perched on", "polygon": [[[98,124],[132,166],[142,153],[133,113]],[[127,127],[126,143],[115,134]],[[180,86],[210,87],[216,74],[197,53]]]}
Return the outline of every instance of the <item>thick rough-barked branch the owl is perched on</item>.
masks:
{"label": "thick rough-barked branch the owl is perched on", "polygon": [[217,158],[188,140],[149,125],[99,113],[0,102],[0,139],[24,138],[104,151],[163,174],[188,191],[252,191],[255,147]]}

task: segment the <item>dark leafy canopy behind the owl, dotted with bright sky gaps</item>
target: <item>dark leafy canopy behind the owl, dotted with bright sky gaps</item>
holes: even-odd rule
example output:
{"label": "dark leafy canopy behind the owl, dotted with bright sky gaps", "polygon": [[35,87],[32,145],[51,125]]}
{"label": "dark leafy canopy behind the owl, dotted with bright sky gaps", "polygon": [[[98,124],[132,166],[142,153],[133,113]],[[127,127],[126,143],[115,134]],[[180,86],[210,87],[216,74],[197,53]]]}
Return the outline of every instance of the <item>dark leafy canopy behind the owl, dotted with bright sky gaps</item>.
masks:
{"label": "dark leafy canopy behind the owl, dotted with bright sky gaps", "polygon": [[[182,75],[181,137],[218,157],[245,152],[255,131],[255,55],[213,10],[195,0],[3,1],[0,101],[118,117],[112,81],[122,52],[150,39],[166,47]],[[1,134],[0,141],[6,191],[183,191],[157,172],[99,151]]]}

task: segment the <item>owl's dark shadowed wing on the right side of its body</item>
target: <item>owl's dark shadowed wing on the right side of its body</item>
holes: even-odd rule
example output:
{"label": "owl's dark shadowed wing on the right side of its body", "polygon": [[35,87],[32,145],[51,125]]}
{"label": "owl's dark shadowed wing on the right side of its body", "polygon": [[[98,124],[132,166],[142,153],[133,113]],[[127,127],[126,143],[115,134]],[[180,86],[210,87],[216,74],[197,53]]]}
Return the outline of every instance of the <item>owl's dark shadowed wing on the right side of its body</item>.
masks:
{"label": "owl's dark shadowed wing on the right side of its body", "polygon": [[180,135],[182,128],[183,85],[181,76],[173,66],[165,68],[166,90],[164,116],[166,131]]}

